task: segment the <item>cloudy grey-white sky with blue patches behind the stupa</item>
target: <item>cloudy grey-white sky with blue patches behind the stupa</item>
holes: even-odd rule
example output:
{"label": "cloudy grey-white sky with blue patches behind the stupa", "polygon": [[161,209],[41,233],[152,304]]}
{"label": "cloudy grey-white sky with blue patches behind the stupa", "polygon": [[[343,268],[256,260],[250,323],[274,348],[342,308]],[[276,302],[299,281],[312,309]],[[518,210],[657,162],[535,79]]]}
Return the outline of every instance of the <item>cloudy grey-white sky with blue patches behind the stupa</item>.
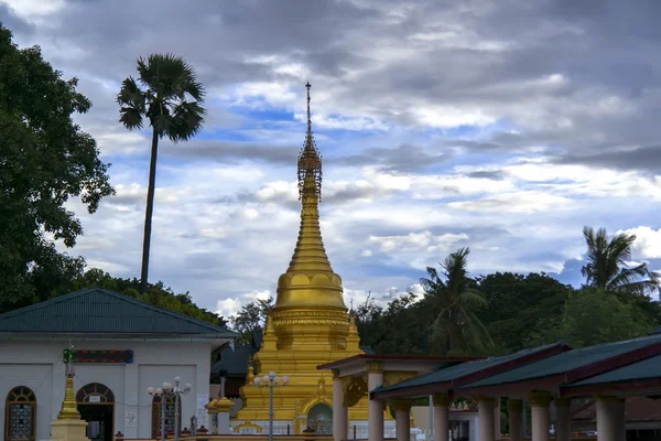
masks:
{"label": "cloudy grey-white sky with blue patches behind the stupa", "polygon": [[274,293],[299,225],[312,84],[322,232],[345,297],[473,275],[581,283],[584,225],[635,232],[661,268],[659,0],[0,0],[0,21],[94,103],[77,118],[117,196],[72,250],[138,277],[150,135],[118,122],[136,58],[173,52],[207,88],[195,140],[159,158],[151,280],[228,315]]}

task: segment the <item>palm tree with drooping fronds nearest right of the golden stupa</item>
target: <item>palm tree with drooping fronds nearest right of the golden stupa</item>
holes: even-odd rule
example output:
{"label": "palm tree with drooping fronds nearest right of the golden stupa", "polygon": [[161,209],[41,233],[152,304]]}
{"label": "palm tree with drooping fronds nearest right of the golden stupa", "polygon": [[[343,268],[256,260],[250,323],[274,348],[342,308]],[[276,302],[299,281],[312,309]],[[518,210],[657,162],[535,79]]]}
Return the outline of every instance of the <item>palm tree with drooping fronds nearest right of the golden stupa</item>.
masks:
{"label": "palm tree with drooping fronds nearest right of the golden stupa", "polygon": [[494,342],[475,315],[487,305],[479,291],[470,287],[466,263],[469,248],[460,248],[445,258],[438,272],[427,267],[429,279],[420,279],[425,300],[438,311],[431,329],[432,345],[443,355],[483,355]]}

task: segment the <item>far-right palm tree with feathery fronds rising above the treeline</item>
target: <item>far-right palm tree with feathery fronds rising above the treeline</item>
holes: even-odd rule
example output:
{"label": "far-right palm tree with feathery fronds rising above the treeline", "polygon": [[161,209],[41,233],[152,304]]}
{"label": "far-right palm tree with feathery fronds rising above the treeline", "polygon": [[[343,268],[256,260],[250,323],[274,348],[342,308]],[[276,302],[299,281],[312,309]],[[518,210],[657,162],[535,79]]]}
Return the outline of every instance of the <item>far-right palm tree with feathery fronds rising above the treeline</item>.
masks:
{"label": "far-right palm tree with feathery fronds rising above the treeline", "polygon": [[659,275],[650,271],[647,263],[628,266],[636,235],[620,233],[608,240],[606,228],[595,233],[592,227],[584,227],[583,236],[587,245],[587,262],[581,268],[581,273],[588,286],[641,295],[659,290]]}

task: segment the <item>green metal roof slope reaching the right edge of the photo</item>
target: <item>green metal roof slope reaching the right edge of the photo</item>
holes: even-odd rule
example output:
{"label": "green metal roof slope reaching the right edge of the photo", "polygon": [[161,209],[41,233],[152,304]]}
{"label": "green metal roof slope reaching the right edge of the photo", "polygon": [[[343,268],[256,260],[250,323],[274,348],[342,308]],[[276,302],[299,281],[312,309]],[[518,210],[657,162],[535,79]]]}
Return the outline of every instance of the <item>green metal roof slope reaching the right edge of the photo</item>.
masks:
{"label": "green metal roof slope reaching the right edge of the photo", "polygon": [[661,342],[661,335],[649,335],[624,342],[606,343],[597,346],[567,351],[553,357],[544,358],[517,369],[485,378],[465,387],[475,388],[481,386],[496,386],[506,383],[524,381],[528,379],[564,374],[658,342]]}

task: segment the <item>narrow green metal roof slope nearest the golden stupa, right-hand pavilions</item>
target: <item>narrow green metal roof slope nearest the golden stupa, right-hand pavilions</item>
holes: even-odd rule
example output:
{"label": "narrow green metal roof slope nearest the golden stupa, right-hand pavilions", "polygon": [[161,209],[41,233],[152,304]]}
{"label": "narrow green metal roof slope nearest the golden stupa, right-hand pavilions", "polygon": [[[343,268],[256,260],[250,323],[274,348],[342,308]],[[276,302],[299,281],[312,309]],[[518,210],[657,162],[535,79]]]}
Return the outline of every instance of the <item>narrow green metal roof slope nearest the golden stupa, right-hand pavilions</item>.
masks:
{"label": "narrow green metal roof slope nearest the golden stupa, right-hand pavilions", "polygon": [[498,366],[498,365],[501,365],[507,362],[512,362],[518,358],[539,353],[540,351],[545,351],[555,345],[556,344],[533,347],[533,348],[529,348],[529,349],[522,349],[522,351],[519,351],[519,352],[516,352],[516,353],[509,354],[509,355],[483,358],[483,359],[477,359],[474,362],[459,363],[457,365],[452,365],[449,367],[442,367],[438,370],[435,370],[435,372],[432,372],[432,373],[429,373],[425,375],[421,375],[419,377],[410,378],[410,379],[400,381],[392,386],[382,387],[382,388],[379,388],[378,390],[379,391],[397,390],[397,389],[415,387],[415,386],[431,385],[434,383],[452,381],[454,379],[475,374],[479,370],[488,369],[490,367]]}

